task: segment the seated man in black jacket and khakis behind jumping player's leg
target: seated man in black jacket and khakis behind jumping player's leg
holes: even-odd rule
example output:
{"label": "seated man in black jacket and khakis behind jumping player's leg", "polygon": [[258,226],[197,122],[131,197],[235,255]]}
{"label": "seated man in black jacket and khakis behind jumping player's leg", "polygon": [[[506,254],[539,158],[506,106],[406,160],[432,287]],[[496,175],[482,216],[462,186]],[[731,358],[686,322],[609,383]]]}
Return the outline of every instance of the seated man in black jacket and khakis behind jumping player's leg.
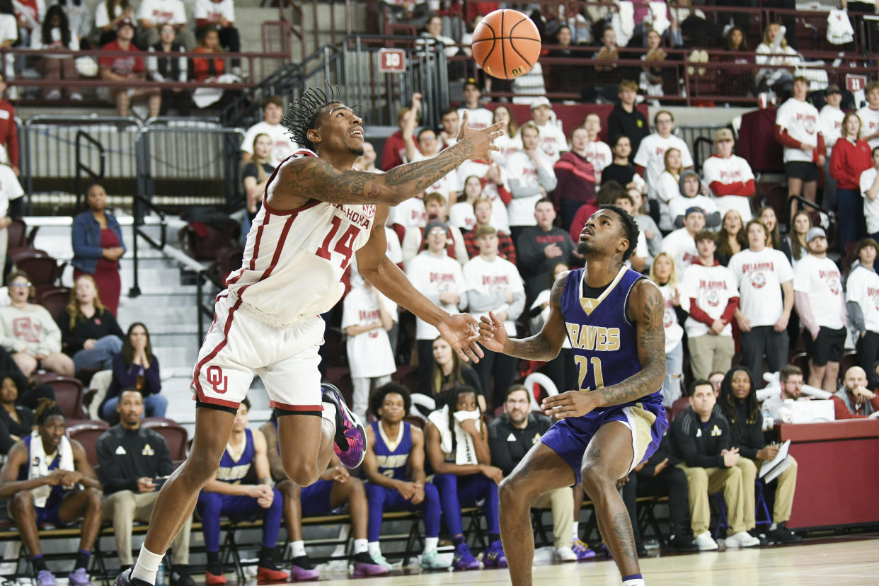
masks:
{"label": "seated man in black jacket and khakis behind jumping player's leg", "polygon": [[[121,568],[133,565],[131,532],[134,521],[148,522],[160,482],[174,471],[168,443],[154,430],[141,425],[143,397],[127,389],[116,407],[120,423],[98,438],[98,474],[104,483],[104,520],[113,522]],[[172,586],[194,586],[187,571],[192,517],[174,539]]]}

